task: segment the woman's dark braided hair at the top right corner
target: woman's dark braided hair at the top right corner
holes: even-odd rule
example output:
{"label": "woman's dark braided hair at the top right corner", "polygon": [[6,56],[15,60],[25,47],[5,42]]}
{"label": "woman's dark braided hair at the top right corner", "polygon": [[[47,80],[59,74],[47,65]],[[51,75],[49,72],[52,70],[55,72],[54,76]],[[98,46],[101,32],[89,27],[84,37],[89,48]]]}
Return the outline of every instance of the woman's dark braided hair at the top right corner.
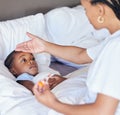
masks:
{"label": "woman's dark braided hair at the top right corner", "polygon": [[120,20],[120,0],[91,0],[91,4],[103,3],[109,6]]}

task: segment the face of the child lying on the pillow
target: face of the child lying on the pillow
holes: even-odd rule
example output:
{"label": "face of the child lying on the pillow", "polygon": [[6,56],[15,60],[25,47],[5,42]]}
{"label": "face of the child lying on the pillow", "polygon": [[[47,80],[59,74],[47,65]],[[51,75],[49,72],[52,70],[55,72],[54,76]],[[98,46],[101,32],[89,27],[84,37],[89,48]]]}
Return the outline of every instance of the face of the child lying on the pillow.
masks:
{"label": "face of the child lying on the pillow", "polygon": [[20,75],[22,73],[28,73],[30,75],[36,75],[38,73],[38,66],[34,56],[31,53],[16,53],[14,56],[14,63],[12,66],[12,73]]}

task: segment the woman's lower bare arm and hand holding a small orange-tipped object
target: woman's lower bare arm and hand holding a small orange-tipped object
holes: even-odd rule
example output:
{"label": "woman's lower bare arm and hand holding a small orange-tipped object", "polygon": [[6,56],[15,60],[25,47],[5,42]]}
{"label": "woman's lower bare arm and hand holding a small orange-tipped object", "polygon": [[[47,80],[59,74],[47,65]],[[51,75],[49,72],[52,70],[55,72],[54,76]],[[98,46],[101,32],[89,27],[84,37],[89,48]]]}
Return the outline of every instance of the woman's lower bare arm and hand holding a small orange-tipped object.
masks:
{"label": "woman's lower bare arm and hand holding a small orange-tipped object", "polygon": [[119,100],[115,98],[98,94],[95,103],[70,105],[60,102],[50,90],[46,89],[44,92],[40,92],[39,88],[38,85],[35,85],[33,89],[37,100],[49,108],[65,115],[115,115],[119,103]]}

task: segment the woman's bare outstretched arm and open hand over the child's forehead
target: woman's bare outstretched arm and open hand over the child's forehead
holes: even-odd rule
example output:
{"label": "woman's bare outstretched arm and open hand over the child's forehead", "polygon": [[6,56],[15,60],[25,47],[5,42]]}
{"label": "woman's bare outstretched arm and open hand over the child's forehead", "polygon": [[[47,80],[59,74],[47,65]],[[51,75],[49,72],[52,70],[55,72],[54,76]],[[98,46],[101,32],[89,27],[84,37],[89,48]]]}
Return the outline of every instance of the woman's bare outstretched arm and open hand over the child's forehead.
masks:
{"label": "woman's bare outstretched arm and open hand over the child's forehead", "polygon": [[27,33],[31,40],[18,44],[17,51],[41,53],[47,52],[56,57],[63,58],[77,64],[92,62],[92,59],[87,55],[86,49],[75,46],[62,46],[47,42],[38,36]]}

